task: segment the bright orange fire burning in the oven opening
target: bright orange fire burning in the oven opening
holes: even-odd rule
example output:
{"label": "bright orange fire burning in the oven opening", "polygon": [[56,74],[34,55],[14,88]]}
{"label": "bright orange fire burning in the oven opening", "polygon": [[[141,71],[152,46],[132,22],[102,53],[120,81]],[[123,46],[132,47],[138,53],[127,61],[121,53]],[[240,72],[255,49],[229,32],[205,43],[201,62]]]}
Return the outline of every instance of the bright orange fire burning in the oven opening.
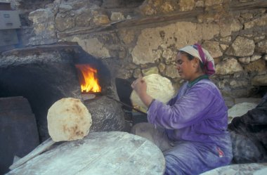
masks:
{"label": "bright orange fire burning in the oven opening", "polygon": [[97,70],[91,67],[90,65],[75,65],[83,75],[83,78],[80,79],[82,92],[100,92],[101,87],[96,78]]}

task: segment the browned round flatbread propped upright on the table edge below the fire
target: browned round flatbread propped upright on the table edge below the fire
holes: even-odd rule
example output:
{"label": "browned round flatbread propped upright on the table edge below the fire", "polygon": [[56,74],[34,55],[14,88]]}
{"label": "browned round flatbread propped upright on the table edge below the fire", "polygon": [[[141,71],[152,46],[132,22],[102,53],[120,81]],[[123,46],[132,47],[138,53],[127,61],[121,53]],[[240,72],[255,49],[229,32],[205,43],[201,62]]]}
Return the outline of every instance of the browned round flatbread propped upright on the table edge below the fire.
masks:
{"label": "browned round flatbread propped upright on the table edge below the fire", "polygon": [[92,119],[82,101],[62,98],[49,108],[47,123],[53,141],[74,141],[89,133]]}

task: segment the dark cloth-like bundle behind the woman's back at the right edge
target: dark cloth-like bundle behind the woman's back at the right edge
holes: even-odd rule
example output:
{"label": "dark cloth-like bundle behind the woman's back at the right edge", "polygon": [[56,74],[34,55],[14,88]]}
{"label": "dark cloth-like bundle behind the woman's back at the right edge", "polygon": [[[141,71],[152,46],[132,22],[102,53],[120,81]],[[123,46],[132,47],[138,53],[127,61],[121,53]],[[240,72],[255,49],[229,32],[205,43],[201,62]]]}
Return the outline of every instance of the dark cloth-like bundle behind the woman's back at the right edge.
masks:
{"label": "dark cloth-like bundle behind the woman's back at the right edge", "polygon": [[256,108],[235,117],[228,130],[233,143],[233,163],[267,161],[267,93]]}

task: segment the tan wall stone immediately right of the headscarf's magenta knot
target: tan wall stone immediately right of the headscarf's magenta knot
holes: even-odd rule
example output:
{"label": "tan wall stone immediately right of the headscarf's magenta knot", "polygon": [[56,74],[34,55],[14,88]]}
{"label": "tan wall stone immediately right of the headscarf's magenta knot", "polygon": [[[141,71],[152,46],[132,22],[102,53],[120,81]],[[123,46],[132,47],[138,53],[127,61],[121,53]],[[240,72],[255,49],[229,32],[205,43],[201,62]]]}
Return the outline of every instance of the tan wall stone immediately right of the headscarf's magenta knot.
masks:
{"label": "tan wall stone immediately right of the headscarf's magenta knot", "polygon": [[229,58],[216,65],[216,74],[233,74],[241,71],[243,71],[243,67],[235,58]]}

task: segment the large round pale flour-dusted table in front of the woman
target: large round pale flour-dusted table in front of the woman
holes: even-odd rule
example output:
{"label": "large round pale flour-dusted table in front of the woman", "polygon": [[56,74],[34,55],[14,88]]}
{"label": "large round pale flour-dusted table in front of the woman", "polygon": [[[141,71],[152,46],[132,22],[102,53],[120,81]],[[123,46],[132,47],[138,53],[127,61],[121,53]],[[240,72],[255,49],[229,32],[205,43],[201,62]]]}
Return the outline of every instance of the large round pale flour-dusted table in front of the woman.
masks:
{"label": "large round pale flour-dusted table in front of the woman", "polygon": [[126,132],[91,132],[34,157],[8,174],[164,174],[162,152],[152,142]]}

